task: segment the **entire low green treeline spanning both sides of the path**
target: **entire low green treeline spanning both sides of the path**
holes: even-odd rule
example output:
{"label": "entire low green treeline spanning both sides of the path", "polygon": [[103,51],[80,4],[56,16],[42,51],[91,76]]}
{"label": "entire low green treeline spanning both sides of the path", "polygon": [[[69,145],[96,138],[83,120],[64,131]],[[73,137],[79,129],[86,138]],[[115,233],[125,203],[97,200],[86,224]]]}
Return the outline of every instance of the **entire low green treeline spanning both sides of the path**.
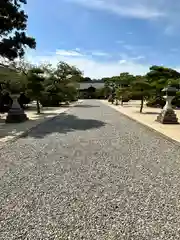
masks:
{"label": "entire low green treeline spanning both sides of the path", "polygon": [[8,67],[0,67],[0,111],[3,109],[2,102],[12,104],[12,94],[19,95],[21,107],[35,100],[37,112],[40,112],[40,105],[59,106],[61,102],[75,101],[81,97],[81,82],[104,83],[102,88],[89,87],[87,98],[109,99],[112,103],[120,101],[122,105],[131,99],[140,100],[140,112],[144,101],[150,107],[163,107],[165,100],[162,89],[171,85],[177,89],[173,105],[180,107],[180,73],[171,68],[152,66],[144,76],[125,72],[119,76],[92,80],[83,77],[78,68],[64,62],[53,67],[51,64],[33,66],[21,60]]}

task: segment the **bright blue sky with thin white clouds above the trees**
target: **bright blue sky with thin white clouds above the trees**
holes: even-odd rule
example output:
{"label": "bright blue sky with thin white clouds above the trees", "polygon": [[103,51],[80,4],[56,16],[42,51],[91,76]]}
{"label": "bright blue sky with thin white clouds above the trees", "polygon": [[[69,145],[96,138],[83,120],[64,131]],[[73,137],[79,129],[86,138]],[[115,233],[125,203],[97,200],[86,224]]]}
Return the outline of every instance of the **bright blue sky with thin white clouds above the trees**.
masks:
{"label": "bright blue sky with thin white clouds above the trees", "polygon": [[92,78],[180,69],[179,0],[28,0],[25,11],[31,62],[66,61]]}

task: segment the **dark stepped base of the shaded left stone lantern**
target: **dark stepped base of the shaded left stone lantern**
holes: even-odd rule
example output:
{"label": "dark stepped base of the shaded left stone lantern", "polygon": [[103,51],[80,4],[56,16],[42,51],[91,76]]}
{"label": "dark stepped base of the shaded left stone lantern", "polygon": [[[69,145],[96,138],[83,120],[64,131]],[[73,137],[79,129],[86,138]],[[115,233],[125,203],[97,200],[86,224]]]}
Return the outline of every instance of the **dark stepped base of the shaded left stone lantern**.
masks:
{"label": "dark stepped base of the shaded left stone lantern", "polygon": [[9,110],[6,123],[21,123],[29,120],[21,108],[12,108]]}

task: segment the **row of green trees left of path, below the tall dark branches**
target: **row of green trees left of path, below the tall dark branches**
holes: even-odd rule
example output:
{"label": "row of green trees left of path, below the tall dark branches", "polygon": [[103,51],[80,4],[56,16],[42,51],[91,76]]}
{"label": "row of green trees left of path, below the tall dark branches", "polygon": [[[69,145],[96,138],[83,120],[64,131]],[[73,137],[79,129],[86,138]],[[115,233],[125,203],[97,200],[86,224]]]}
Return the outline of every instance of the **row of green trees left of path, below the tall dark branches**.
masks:
{"label": "row of green trees left of path, below the tall dark branches", "polygon": [[[59,106],[61,102],[75,101],[78,98],[78,82],[82,72],[74,66],[59,62],[33,66],[25,61],[11,63],[8,67],[0,66],[0,102],[11,105],[10,96],[19,95],[23,107],[35,100],[37,112],[42,106]],[[3,104],[2,102],[5,101]]]}

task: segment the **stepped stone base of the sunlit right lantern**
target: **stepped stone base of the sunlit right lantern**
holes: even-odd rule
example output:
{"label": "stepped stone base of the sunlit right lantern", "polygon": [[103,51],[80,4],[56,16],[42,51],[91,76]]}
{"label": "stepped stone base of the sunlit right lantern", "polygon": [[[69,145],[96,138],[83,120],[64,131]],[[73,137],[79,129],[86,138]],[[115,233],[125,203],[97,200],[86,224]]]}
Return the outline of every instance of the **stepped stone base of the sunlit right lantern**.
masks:
{"label": "stepped stone base of the sunlit right lantern", "polygon": [[162,110],[156,121],[162,124],[179,124],[178,118],[173,109]]}

